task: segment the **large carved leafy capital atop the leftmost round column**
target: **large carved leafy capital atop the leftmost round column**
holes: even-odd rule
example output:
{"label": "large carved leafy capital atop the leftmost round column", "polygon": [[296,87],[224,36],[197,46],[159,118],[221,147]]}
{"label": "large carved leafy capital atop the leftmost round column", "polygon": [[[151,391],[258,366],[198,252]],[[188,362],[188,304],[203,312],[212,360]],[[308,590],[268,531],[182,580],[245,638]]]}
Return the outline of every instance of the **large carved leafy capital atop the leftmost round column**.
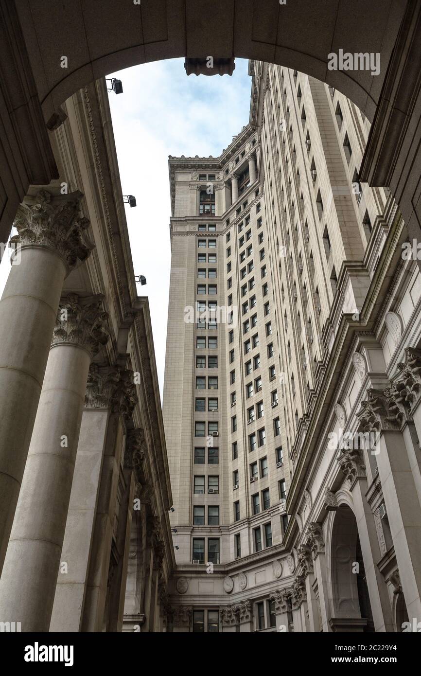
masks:
{"label": "large carved leafy capital atop the leftmost round column", "polygon": [[80,218],[82,193],[53,196],[41,190],[34,198],[26,197],[16,212],[14,227],[18,235],[12,244],[20,247],[46,247],[55,251],[71,269],[78,259],[91,254],[93,243],[87,237],[89,220]]}

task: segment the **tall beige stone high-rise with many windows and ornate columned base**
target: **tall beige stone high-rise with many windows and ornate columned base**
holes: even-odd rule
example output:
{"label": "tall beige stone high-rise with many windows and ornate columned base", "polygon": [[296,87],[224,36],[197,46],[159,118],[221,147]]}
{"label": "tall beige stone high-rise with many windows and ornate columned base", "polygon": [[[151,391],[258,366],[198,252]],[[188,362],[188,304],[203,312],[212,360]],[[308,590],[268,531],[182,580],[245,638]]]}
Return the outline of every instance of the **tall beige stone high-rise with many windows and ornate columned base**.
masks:
{"label": "tall beige stone high-rise with many windows and ornate columned base", "polygon": [[170,157],[164,425],[174,631],[421,617],[421,279],[370,124],[253,62],[249,124]]}

